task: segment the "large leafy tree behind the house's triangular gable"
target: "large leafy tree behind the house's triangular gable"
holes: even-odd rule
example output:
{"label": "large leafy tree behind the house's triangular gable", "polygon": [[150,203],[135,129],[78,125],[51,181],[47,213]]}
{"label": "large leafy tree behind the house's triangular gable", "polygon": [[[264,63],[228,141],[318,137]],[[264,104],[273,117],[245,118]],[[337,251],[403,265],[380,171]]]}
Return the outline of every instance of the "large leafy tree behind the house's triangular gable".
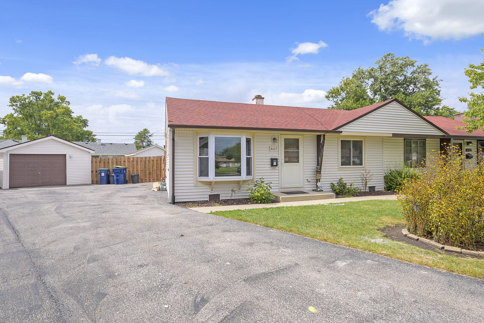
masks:
{"label": "large leafy tree behind the house's triangular gable", "polygon": [[327,92],[326,98],[333,102],[329,108],[353,110],[397,98],[422,115],[454,118],[454,108],[441,106],[441,80],[431,77],[428,64],[416,62],[388,53],[375,66],[359,67]]}

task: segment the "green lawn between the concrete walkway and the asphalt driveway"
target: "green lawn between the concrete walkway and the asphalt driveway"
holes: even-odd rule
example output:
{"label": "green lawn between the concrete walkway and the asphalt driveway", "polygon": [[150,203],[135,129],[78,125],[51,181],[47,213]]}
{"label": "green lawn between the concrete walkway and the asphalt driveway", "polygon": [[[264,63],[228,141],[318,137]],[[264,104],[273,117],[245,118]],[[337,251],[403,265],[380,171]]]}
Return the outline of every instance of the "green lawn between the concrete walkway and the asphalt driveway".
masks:
{"label": "green lawn between the concrete walkway and the asphalt driveway", "polygon": [[405,225],[395,200],[213,212],[260,226],[484,279],[484,260],[441,255],[383,238],[377,229]]}

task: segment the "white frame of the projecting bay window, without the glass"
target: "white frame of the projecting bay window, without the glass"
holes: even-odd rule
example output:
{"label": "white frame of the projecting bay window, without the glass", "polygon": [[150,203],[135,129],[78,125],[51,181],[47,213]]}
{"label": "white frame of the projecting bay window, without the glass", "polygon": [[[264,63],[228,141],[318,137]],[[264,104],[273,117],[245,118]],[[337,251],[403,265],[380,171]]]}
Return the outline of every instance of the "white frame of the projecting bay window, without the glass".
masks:
{"label": "white frame of the projecting bay window, without the glass", "polygon": [[[209,177],[200,177],[200,166],[198,165],[200,154],[199,142],[200,137],[209,138]],[[239,137],[241,138],[241,176],[227,176],[215,177],[215,137]],[[251,152],[252,152],[252,175],[246,175],[246,154],[245,154],[245,138],[250,138]],[[254,138],[252,136],[243,135],[197,135],[197,180],[198,181],[242,181],[254,178]]]}

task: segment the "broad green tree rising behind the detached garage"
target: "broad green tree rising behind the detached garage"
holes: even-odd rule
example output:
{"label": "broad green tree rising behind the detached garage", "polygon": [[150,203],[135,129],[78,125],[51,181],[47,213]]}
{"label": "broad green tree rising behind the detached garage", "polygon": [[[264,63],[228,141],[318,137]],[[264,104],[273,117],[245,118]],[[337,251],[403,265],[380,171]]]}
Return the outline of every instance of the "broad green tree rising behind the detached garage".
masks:
{"label": "broad green tree rising behind the detached garage", "polygon": [[2,139],[28,140],[55,135],[70,141],[96,141],[91,130],[86,130],[89,120],[74,116],[71,104],[65,96],[54,92],[32,91],[29,95],[14,95],[9,100],[9,107],[14,110],[0,119],[5,125]]}

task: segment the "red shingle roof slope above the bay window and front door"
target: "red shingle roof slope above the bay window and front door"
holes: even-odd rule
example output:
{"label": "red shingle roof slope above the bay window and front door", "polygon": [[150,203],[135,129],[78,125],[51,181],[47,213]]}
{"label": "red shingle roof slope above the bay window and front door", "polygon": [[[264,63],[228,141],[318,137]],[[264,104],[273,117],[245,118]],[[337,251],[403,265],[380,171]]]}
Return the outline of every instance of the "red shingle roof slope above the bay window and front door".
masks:
{"label": "red shingle roof slope above the bay window and front door", "polygon": [[167,97],[166,108],[170,127],[262,128],[334,132],[346,123],[393,100],[347,111]]}

